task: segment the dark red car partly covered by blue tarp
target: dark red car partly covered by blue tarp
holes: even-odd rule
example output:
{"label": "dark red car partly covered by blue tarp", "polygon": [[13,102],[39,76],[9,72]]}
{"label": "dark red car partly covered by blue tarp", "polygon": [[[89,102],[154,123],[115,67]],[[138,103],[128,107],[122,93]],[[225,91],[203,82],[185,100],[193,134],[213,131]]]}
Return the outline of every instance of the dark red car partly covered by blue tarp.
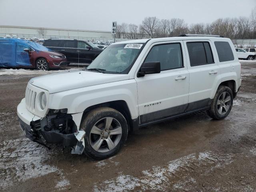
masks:
{"label": "dark red car partly covered by blue tarp", "polygon": [[0,67],[29,67],[49,70],[66,65],[66,56],[36,42],[0,39]]}

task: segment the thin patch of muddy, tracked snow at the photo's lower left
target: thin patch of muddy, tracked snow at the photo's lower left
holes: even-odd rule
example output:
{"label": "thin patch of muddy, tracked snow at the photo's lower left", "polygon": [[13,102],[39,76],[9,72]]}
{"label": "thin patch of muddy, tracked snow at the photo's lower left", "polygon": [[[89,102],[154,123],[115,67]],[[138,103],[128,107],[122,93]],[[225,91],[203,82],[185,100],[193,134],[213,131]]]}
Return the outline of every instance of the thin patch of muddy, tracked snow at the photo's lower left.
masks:
{"label": "thin patch of muddy, tracked snow at the photo's lower left", "polygon": [[27,138],[0,143],[0,188],[58,172],[56,166],[44,163],[53,153],[54,149],[49,152]]}

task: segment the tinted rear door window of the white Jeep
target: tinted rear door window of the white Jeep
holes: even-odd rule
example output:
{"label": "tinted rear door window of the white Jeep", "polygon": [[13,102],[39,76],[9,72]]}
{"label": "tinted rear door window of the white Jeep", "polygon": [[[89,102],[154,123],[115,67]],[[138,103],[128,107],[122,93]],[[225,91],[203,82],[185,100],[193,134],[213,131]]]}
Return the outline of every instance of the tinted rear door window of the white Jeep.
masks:
{"label": "tinted rear door window of the white Jeep", "polygon": [[190,66],[214,63],[209,42],[187,42]]}

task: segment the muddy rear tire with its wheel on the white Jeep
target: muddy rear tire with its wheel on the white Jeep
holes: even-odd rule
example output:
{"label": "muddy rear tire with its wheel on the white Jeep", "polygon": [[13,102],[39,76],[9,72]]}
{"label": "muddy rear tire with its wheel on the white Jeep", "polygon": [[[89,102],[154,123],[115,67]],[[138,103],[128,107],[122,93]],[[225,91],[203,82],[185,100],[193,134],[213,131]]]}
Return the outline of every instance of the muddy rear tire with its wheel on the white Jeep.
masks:
{"label": "muddy rear tire with its wheel on the white Jeep", "polygon": [[228,116],[232,106],[232,90],[227,86],[219,86],[207,113],[211,118],[221,120]]}

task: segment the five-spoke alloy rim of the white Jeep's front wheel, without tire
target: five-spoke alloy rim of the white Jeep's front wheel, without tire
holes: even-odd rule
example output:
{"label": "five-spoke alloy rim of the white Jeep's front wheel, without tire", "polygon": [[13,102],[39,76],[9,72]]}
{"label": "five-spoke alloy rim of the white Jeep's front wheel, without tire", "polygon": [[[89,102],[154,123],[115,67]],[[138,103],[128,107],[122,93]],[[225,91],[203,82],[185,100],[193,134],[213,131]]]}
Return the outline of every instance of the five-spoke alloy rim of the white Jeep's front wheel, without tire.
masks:
{"label": "five-spoke alloy rim of the white Jeep's front wheel, without tire", "polygon": [[109,152],[120,142],[122,127],[112,117],[106,117],[94,124],[90,131],[90,145],[97,152]]}

